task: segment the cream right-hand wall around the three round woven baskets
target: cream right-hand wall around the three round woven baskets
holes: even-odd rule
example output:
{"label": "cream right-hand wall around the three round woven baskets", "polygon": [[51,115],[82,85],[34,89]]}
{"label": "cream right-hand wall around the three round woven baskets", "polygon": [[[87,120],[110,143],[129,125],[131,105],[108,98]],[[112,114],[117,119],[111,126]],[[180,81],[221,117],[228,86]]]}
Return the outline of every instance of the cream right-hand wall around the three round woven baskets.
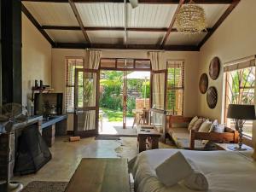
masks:
{"label": "cream right-hand wall around the three round woven baskets", "polygon": [[[218,30],[213,33],[207,43],[201,48],[199,61],[199,73],[208,73],[209,63],[214,56],[218,56],[222,62],[221,72],[217,80],[210,79],[209,86],[215,86],[218,90],[218,104],[216,108],[207,107],[206,95],[199,94],[198,113],[212,119],[222,118],[223,96],[223,63],[233,61],[249,55],[256,54],[256,1],[241,0],[236,9],[224,20]],[[254,134],[255,135],[255,134]]]}

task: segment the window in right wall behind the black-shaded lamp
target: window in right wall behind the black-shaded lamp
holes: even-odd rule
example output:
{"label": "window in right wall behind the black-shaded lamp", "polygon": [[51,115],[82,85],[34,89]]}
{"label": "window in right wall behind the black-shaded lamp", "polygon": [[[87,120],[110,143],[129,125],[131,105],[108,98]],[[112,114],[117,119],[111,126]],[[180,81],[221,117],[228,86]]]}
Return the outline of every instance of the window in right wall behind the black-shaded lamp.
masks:
{"label": "window in right wall behind the black-shaded lamp", "polygon": [[[234,121],[226,118],[229,104],[253,105],[254,103],[255,65],[252,61],[236,61],[233,65],[224,67],[224,122],[228,127],[235,127]],[[252,137],[252,128],[253,121],[247,120],[243,125],[243,134]]]}

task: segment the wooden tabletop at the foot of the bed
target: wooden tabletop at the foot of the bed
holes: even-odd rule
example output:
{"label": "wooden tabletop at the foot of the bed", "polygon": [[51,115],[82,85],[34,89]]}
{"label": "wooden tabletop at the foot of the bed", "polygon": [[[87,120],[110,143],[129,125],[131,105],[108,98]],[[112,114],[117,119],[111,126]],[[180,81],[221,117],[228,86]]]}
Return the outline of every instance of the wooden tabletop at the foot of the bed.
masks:
{"label": "wooden tabletop at the foot of the bed", "polygon": [[130,192],[126,159],[82,159],[65,192]]}

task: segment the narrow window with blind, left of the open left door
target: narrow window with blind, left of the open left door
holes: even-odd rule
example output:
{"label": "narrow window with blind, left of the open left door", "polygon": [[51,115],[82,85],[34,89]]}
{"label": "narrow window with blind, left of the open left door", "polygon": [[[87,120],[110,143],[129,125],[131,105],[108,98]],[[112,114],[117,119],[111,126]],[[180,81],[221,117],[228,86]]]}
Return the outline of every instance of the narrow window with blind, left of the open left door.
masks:
{"label": "narrow window with blind, left of the open left door", "polygon": [[65,108],[66,113],[74,113],[74,83],[75,69],[84,67],[82,58],[70,58],[66,60],[66,90],[65,90]]}

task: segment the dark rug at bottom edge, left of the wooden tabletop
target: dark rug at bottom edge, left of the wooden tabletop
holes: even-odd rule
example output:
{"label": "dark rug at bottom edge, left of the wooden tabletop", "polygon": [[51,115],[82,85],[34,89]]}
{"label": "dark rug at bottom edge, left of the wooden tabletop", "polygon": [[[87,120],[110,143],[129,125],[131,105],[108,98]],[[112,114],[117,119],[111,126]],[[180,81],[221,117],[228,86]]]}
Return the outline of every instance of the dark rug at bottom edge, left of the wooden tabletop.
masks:
{"label": "dark rug at bottom edge, left of the wooden tabletop", "polygon": [[33,181],[22,192],[64,192],[68,182]]}

